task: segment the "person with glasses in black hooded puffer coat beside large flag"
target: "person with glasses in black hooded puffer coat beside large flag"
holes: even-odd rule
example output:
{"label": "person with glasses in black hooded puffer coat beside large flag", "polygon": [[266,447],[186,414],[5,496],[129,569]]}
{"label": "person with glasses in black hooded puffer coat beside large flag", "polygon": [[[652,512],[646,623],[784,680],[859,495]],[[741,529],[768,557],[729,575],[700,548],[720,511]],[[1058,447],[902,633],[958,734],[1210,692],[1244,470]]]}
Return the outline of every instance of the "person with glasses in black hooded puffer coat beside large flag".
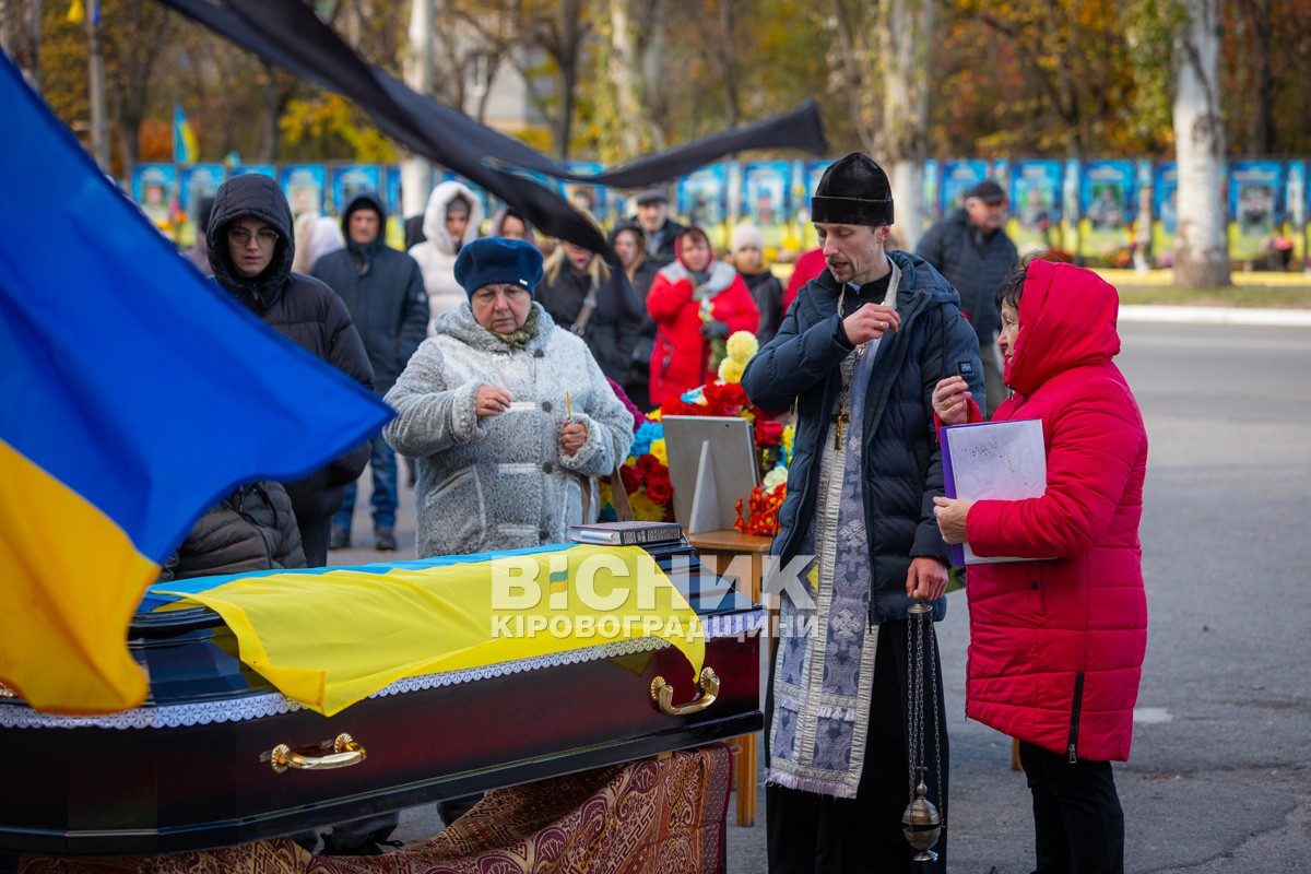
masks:
{"label": "person with glasses in black hooded puffer coat beside large flag", "polygon": [[[346,304],[317,279],[291,273],[291,207],[277,182],[257,174],[224,182],[214,198],[208,241],[214,278],[228,294],[287,339],[372,388],[374,368]],[[367,463],[364,443],[303,480],[283,484],[309,567],[328,563],[332,514],[346,484]]]}

